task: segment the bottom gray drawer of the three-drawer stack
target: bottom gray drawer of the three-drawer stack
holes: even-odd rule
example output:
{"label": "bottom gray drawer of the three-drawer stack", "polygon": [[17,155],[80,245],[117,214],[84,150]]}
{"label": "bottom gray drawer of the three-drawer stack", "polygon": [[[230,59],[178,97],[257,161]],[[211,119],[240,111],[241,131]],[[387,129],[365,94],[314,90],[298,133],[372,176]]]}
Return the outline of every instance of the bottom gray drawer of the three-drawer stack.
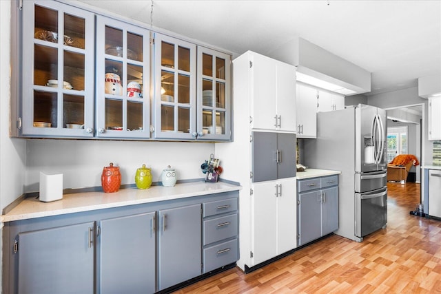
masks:
{"label": "bottom gray drawer of the three-drawer stack", "polygon": [[237,239],[223,242],[204,249],[203,251],[203,273],[207,273],[221,266],[231,264],[238,260]]}

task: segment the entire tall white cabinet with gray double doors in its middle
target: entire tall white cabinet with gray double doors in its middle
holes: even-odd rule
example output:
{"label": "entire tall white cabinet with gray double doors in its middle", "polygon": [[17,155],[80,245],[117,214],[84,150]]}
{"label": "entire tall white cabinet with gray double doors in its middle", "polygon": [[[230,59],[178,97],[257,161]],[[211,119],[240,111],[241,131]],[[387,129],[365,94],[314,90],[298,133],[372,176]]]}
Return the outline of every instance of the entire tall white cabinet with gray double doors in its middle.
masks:
{"label": "entire tall white cabinet with gray double doors in its middle", "polygon": [[233,72],[234,140],[215,151],[223,178],[243,187],[237,264],[246,272],[296,248],[296,69],[245,52]]}

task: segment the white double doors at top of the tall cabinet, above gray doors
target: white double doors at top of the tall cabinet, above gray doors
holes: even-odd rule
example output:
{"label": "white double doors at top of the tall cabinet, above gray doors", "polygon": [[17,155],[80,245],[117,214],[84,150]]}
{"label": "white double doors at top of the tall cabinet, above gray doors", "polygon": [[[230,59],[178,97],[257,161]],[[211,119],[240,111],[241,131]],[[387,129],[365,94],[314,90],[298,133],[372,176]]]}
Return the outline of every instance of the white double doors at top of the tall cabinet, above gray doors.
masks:
{"label": "white double doors at top of the tall cabinet, above gray doors", "polygon": [[251,71],[252,127],[296,132],[296,68],[246,52]]}

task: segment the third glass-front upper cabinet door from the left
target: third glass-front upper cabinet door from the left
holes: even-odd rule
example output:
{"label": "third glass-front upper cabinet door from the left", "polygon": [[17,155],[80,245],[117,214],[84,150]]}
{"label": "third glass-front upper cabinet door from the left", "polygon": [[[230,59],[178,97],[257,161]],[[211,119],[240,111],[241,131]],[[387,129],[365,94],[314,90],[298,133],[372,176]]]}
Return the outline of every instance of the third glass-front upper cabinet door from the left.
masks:
{"label": "third glass-front upper cabinet door from the left", "polygon": [[196,138],[196,45],[156,33],[154,86],[154,137]]}

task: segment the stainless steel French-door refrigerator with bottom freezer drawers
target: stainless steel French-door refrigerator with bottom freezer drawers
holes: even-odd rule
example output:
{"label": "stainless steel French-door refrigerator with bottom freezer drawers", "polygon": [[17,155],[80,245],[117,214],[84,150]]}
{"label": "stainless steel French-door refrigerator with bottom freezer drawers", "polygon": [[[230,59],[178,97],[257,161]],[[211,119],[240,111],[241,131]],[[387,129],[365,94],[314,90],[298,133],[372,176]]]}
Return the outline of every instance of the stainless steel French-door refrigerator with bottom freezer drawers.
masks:
{"label": "stainless steel French-door refrigerator with bottom freezer drawers", "polygon": [[340,170],[337,235],[361,242],[387,224],[387,116],[356,105],[317,114],[317,138],[304,140],[305,165]]}

